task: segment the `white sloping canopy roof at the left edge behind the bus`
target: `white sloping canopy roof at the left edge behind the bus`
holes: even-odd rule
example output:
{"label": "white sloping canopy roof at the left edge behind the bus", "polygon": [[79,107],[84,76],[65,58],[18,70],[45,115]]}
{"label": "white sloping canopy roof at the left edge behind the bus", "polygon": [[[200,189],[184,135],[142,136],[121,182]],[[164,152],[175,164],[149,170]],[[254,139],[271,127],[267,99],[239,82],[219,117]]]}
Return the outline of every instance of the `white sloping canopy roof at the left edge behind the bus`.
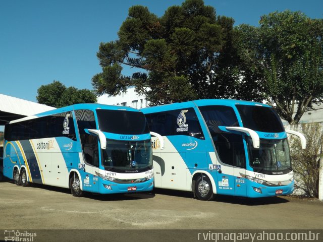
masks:
{"label": "white sloping canopy roof at the left edge behind the bus", "polygon": [[0,94],[0,125],[52,109],[55,109],[55,107]]}

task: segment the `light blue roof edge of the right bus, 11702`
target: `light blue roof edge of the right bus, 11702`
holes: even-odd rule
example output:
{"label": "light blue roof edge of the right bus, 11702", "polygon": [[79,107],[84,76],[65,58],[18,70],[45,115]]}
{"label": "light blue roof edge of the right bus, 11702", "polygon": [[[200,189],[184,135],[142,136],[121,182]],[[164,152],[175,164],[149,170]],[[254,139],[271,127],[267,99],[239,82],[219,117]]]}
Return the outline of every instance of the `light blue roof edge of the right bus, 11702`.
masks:
{"label": "light blue roof edge of the right bus, 11702", "polygon": [[189,108],[195,106],[209,106],[209,105],[224,105],[224,106],[234,106],[236,104],[241,105],[261,105],[264,107],[271,107],[270,105],[263,104],[260,102],[251,102],[251,101],[243,101],[243,100],[235,100],[235,99],[201,99],[201,100],[193,100],[188,102],[176,102],[171,104],[165,104],[160,106],[153,107],[145,107],[140,110],[143,113],[151,113],[151,112],[161,112],[167,110],[175,110],[181,108]]}

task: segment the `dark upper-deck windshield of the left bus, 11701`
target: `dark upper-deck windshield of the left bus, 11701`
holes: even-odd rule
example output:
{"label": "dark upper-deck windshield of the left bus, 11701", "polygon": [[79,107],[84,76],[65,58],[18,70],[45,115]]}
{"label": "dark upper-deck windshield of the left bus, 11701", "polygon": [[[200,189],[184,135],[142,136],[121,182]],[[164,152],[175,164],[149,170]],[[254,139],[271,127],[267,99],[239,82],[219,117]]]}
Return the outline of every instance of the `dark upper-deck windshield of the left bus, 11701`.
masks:
{"label": "dark upper-deck windshield of the left bus, 11701", "polygon": [[121,135],[149,134],[146,118],[142,112],[126,110],[96,110],[99,130]]}

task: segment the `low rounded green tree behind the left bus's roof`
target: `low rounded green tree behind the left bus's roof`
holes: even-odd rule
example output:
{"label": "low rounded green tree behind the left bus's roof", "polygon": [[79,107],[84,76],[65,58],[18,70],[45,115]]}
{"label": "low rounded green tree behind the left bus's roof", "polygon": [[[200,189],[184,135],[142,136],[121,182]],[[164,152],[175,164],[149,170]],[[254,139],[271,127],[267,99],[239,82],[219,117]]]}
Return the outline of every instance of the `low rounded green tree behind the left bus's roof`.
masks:
{"label": "low rounded green tree behind the left bus's roof", "polygon": [[88,89],[66,87],[59,81],[41,85],[38,90],[38,103],[52,107],[64,107],[77,103],[95,103],[96,95]]}

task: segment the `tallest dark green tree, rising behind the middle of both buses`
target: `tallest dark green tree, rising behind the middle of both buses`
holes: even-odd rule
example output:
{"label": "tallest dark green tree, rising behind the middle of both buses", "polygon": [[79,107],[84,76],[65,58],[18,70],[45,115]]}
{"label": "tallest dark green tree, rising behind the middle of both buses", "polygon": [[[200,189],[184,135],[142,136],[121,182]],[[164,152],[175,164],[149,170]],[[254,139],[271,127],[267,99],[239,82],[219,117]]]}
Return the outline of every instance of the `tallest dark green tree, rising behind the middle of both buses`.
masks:
{"label": "tallest dark green tree, rising behind the middle of both buses", "polygon": [[[120,94],[136,86],[155,104],[195,98],[234,97],[239,90],[232,18],[217,16],[202,0],[186,0],[158,18],[147,7],[133,6],[119,39],[100,43],[102,72],[92,78],[96,94]],[[142,69],[131,77],[122,65]]]}

